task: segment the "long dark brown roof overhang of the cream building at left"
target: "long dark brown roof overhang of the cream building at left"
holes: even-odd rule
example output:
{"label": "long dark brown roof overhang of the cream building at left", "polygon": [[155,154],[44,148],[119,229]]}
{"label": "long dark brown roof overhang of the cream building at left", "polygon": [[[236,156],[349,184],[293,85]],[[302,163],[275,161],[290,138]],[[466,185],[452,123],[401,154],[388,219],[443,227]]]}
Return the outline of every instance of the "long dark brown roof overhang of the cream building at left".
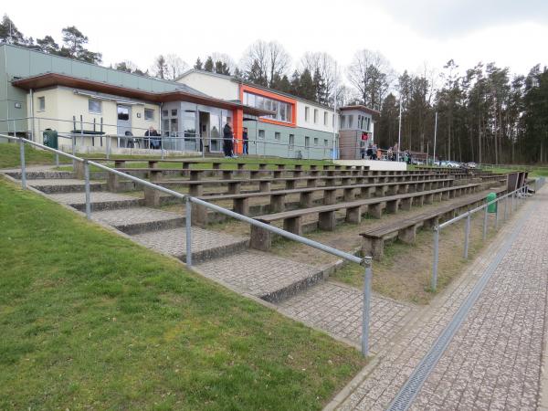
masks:
{"label": "long dark brown roof overhang of the cream building at left", "polygon": [[130,89],[90,79],[67,76],[58,73],[46,73],[37,76],[26,77],[25,79],[14,79],[12,85],[25,90],[40,90],[54,86],[65,86],[81,90],[98,91],[115,96],[127,97],[137,100],[144,100],[154,103],[169,101],[188,101],[206,106],[213,106],[225,110],[241,109],[244,113],[252,116],[267,116],[274,114],[273,111],[261,110],[255,107],[245,106],[236,101],[215,99],[209,96],[197,95],[183,90],[164,91],[155,93],[152,91]]}

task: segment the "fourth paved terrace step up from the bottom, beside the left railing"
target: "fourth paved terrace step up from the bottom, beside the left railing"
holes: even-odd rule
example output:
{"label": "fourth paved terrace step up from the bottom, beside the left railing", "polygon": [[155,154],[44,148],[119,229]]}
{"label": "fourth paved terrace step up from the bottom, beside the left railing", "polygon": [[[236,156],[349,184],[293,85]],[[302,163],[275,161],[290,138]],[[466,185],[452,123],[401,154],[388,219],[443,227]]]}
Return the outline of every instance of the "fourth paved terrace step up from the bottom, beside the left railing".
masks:
{"label": "fourth paved terrace step up from the bottom, beside the left railing", "polygon": [[[60,193],[49,195],[58,203],[70,205],[79,211],[86,209],[86,194],[85,193]],[[90,195],[91,211],[113,210],[119,208],[131,208],[139,205],[144,205],[144,200],[132,195],[121,195],[109,192],[94,192]]]}

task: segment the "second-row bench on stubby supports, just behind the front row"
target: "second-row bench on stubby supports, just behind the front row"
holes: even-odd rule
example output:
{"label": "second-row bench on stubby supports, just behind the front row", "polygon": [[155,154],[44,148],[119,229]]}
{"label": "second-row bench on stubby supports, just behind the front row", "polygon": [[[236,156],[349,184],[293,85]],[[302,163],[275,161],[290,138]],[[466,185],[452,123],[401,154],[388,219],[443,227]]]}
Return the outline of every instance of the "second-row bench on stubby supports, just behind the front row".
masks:
{"label": "second-row bench on stubby supports, just behind the front row", "polygon": [[[348,223],[359,224],[362,221],[363,207],[367,206],[367,214],[375,218],[381,218],[384,211],[396,213],[399,208],[410,209],[416,202],[432,204],[434,199],[441,201],[450,197],[463,194],[471,194],[477,190],[479,184],[466,184],[439,188],[405,195],[389,195],[385,197],[368,198],[335,205],[321,205],[310,208],[286,211],[281,213],[258,216],[256,219],[266,224],[275,221],[283,221],[283,228],[291,233],[302,235],[302,217],[317,214],[318,227],[323,230],[334,230],[336,226],[335,212],[345,210],[345,220]],[[271,247],[271,232],[260,227],[251,226],[251,239],[249,247],[267,250]]]}

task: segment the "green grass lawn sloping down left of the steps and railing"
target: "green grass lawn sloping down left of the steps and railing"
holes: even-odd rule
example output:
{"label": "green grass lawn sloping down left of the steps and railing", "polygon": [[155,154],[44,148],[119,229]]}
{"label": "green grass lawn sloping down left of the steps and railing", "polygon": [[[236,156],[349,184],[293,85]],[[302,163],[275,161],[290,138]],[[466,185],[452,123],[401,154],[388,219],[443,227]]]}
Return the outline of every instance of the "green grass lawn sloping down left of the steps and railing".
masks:
{"label": "green grass lawn sloping down left of the steps and railing", "polygon": [[353,348],[0,179],[0,409],[320,409]]}

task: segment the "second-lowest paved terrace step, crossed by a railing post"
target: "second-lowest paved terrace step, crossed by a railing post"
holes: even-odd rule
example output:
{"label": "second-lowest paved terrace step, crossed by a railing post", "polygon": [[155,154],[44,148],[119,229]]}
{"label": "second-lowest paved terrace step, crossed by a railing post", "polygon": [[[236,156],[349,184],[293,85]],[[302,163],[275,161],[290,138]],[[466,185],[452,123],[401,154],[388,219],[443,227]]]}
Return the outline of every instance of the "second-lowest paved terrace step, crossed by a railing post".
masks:
{"label": "second-lowest paved terrace step, crossed by a railing post", "polygon": [[[183,261],[186,259],[186,232],[184,228],[150,231],[136,234],[132,238],[147,248],[153,248]],[[249,239],[245,237],[234,237],[224,233],[207,231],[199,227],[192,227],[193,263],[223,257],[217,260],[223,265],[227,256],[247,249],[248,245]]]}

